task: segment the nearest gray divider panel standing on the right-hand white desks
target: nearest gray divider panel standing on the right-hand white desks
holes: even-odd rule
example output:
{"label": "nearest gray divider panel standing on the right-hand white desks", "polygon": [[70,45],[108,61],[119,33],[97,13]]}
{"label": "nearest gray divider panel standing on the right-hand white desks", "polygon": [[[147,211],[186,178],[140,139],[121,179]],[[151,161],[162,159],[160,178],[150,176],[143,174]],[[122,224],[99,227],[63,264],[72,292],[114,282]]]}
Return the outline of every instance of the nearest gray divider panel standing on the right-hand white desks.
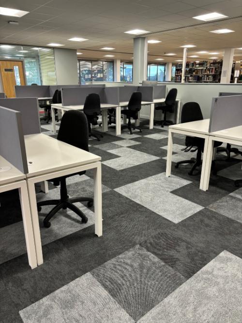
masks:
{"label": "nearest gray divider panel standing on the right-hand white desks", "polygon": [[209,132],[242,125],[242,95],[212,98]]}

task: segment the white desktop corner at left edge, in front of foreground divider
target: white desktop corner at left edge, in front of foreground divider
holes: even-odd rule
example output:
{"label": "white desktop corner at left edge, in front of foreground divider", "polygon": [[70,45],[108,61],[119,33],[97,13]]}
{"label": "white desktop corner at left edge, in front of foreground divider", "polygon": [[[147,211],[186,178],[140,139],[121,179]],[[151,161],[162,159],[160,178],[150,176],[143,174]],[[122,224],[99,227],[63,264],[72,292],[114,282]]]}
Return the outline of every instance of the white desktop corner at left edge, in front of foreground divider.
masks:
{"label": "white desktop corner at left edge, in front of foreground divider", "polygon": [[2,167],[11,167],[11,169],[0,171],[0,185],[13,183],[26,178],[26,175],[24,173],[16,169],[15,166],[10,164],[5,158],[0,156],[0,169]]}

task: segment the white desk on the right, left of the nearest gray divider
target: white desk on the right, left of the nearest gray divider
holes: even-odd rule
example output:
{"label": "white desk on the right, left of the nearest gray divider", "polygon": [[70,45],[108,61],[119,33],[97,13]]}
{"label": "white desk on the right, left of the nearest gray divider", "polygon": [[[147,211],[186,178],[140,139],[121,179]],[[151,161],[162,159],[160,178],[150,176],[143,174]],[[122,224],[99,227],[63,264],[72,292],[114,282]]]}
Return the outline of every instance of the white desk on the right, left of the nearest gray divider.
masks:
{"label": "white desk on the right, left of the nearest gray divider", "polygon": [[166,160],[166,177],[170,176],[171,173],[171,156],[172,156],[172,145],[173,145],[173,135],[174,133],[182,134],[185,136],[204,138],[204,152],[202,160],[202,170],[200,179],[200,189],[204,189],[204,176],[205,167],[207,160],[207,151],[209,144],[209,119],[198,120],[187,123],[174,124],[169,126],[168,133],[168,146],[167,146],[167,160]]}

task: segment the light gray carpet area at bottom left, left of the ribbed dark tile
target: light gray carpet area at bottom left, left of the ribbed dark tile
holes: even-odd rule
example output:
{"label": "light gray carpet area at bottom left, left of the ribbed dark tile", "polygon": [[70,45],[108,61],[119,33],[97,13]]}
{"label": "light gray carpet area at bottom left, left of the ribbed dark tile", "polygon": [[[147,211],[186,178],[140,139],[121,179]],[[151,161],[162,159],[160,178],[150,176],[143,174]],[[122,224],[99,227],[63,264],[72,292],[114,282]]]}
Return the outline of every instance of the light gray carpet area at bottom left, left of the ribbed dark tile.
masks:
{"label": "light gray carpet area at bottom left, left of the ribbed dark tile", "polygon": [[134,322],[90,273],[19,313],[24,323]]}

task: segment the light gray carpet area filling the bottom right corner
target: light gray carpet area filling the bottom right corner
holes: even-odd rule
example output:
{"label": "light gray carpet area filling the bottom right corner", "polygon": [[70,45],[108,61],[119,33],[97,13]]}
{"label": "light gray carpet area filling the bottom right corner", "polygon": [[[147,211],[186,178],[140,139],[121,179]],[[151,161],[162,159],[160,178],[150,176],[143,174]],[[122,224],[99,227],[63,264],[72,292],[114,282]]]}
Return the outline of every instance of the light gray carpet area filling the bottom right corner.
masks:
{"label": "light gray carpet area filling the bottom right corner", "polygon": [[242,322],[241,268],[241,258],[223,251],[138,322]]}

